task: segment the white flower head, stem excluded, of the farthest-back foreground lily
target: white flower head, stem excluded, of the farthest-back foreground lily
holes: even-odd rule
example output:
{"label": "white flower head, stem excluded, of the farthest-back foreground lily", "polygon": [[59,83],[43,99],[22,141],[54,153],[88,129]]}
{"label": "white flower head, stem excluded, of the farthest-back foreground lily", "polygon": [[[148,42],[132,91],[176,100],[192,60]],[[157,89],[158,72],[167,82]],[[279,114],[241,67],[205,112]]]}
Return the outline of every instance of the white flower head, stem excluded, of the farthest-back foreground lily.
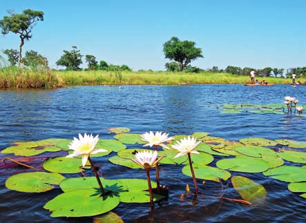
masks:
{"label": "white flower head, stem excluded, of the farthest-back foreground lily", "polygon": [[148,142],[144,146],[162,146],[163,148],[169,149],[164,142],[173,140],[173,137],[168,137],[169,133],[156,132],[155,135],[152,131],[150,133],[141,134],[142,141]]}

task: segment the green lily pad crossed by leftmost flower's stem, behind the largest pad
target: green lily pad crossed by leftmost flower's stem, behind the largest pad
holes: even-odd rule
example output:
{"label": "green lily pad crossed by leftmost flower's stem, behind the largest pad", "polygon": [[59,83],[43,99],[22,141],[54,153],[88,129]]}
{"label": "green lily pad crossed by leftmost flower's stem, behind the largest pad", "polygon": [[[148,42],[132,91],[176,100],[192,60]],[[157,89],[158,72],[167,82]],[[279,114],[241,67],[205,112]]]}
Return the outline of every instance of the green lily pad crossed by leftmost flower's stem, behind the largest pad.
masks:
{"label": "green lily pad crossed by leftmost flower's stem, behind the largest pad", "polygon": [[[100,180],[106,191],[112,191],[115,193],[127,191],[126,184],[123,184],[119,180],[106,180],[102,177],[100,177]],[[67,180],[63,180],[59,186],[64,192],[82,190],[86,188],[99,188],[96,177],[69,178]]]}

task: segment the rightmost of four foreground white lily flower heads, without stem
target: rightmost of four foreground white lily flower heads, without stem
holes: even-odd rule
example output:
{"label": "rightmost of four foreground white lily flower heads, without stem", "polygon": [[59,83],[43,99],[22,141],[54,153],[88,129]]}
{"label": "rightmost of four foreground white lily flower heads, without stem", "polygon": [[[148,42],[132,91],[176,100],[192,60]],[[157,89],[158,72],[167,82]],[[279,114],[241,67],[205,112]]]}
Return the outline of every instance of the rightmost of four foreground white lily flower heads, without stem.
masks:
{"label": "rightmost of four foreground white lily flower heads, without stem", "polygon": [[195,151],[195,147],[198,146],[202,141],[198,141],[194,137],[188,136],[188,138],[184,137],[184,139],[180,139],[180,142],[177,144],[173,144],[173,148],[178,150],[180,153],[178,155],[175,155],[173,159],[176,159],[182,155],[188,154],[188,153],[194,153],[194,154],[200,154],[198,151]]}

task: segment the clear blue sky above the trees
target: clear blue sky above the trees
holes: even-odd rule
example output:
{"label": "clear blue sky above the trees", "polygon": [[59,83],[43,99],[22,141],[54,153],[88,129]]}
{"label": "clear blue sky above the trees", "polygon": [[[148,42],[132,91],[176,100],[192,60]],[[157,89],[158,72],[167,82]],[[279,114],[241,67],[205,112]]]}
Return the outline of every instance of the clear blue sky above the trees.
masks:
{"label": "clear blue sky above the trees", "polygon": [[[195,41],[204,58],[191,65],[203,69],[306,66],[305,0],[6,0],[0,19],[27,8],[43,11],[44,21],[23,52],[45,55],[51,68],[77,46],[97,61],[164,70],[162,45],[171,37]],[[18,35],[0,35],[0,50],[19,42]]]}

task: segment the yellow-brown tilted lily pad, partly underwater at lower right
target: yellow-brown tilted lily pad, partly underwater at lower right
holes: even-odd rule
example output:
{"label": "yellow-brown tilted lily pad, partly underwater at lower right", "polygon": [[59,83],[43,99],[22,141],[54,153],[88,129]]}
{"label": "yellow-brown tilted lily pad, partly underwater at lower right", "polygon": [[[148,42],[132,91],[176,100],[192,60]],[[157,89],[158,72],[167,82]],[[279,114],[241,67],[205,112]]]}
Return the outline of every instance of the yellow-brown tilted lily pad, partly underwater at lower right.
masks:
{"label": "yellow-brown tilted lily pad, partly underwater at lower right", "polygon": [[247,177],[231,177],[231,182],[241,197],[254,204],[261,204],[267,197],[265,188]]}

